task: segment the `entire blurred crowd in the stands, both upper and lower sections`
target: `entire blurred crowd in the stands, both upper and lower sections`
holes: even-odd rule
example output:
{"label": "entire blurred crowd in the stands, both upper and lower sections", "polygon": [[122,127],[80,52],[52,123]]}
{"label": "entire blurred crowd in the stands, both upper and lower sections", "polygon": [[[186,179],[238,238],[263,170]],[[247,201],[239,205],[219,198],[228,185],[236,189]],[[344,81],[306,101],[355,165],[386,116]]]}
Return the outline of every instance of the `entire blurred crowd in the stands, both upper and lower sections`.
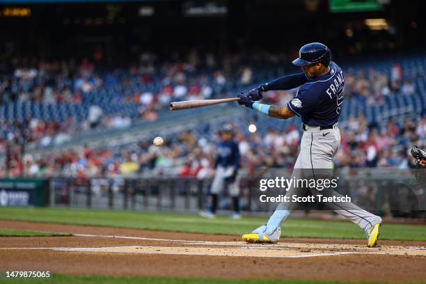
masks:
{"label": "entire blurred crowd in the stands, both upper and lower sections", "polygon": [[[201,55],[192,50],[185,56],[168,57],[145,53],[138,63],[116,68],[102,63],[102,52],[81,61],[8,58],[1,68],[8,72],[2,72],[0,81],[0,152],[4,155],[8,145],[60,144],[92,129],[126,128],[139,120],[154,121],[173,100],[233,96],[289,72],[283,68],[288,57],[267,52]],[[347,69],[345,100],[354,98],[364,106],[379,106],[385,104],[386,97],[411,96],[420,91],[413,81],[423,80],[422,68],[413,71],[404,70],[400,63],[388,65],[385,70]],[[265,101],[285,104],[295,92],[268,92]],[[299,126],[258,126],[268,130],[251,134],[244,119],[234,125],[246,171],[261,166],[292,167],[301,138]],[[341,130],[336,166],[408,168],[413,161],[407,150],[413,144],[422,146],[426,139],[426,118],[407,116],[382,125],[368,121],[359,112]],[[215,132],[193,129],[176,133],[161,148],[141,141],[129,148],[89,145],[39,156],[15,147],[9,151],[8,166],[1,165],[0,176],[8,171],[14,177],[166,173],[210,177],[217,139]]]}

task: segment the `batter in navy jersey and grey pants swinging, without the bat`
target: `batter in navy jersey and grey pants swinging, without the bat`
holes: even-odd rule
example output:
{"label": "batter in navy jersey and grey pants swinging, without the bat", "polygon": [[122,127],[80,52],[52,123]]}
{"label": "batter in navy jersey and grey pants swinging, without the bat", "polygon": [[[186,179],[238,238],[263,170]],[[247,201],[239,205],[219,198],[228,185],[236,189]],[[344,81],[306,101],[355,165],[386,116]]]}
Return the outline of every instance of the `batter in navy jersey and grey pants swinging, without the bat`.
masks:
{"label": "batter in navy jersey and grey pants swinging, without the bat", "polygon": [[[331,61],[328,47],[313,42],[301,47],[299,58],[293,61],[301,66],[303,72],[281,77],[262,84],[250,92],[238,95],[238,103],[255,109],[273,118],[291,118],[300,116],[303,122],[301,149],[294,164],[292,177],[301,178],[303,169],[331,169],[333,157],[340,145],[340,131],[337,123],[342,110],[343,86],[345,77],[340,67]],[[256,102],[262,99],[262,93],[268,90],[290,90],[299,87],[296,97],[285,106],[269,106]],[[317,171],[318,171],[317,170]],[[297,189],[290,188],[287,196]],[[336,195],[336,194],[335,194]],[[338,214],[345,216],[360,226],[368,239],[368,246],[376,246],[379,237],[381,218],[367,212],[353,203],[327,203]],[[243,235],[246,242],[278,242],[281,224],[290,215],[293,205],[281,203],[266,225],[260,226],[251,234]]]}

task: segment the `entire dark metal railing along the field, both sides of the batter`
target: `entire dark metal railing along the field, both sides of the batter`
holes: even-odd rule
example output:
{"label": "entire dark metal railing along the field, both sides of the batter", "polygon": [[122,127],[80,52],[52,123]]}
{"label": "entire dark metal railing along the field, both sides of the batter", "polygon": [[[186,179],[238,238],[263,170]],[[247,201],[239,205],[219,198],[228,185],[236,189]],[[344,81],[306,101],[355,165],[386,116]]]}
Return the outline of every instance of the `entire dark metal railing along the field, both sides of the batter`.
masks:
{"label": "entire dark metal railing along the field, both sides of the batter", "polygon": [[[425,217],[423,186],[411,187],[411,178],[375,175],[342,178],[339,193],[365,210],[385,216]],[[150,178],[51,178],[50,205],[104,210],[198,212],[207,207],[211,179],[162,176]],[[258,180],[244,175],[240,182],[240,209],[270,212],[277,204],[260,204]],[[227,190],[219,210],[232,210]]]}

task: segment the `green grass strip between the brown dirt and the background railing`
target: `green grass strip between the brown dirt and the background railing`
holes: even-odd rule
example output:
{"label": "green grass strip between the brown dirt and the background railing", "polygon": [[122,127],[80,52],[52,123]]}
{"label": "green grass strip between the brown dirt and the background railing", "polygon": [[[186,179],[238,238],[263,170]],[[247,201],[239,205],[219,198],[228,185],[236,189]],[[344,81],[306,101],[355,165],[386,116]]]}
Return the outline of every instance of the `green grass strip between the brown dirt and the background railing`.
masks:
{"label": "green grass strip between the brown dirt and the background railing", "polygon": [[[147,213],[58,208],[0,207],[0,219],[108,226],[204,234],[240,235],[265,224],[267,218],[247,217],[231,220],[226,216],[203,219],[197,215]],[[363,239],[363,230],[350,221],[289,219],[283,224],[282,237],[319,237]],[[387,224],[381,227],[380,239],[426,241],[426,226]]]}

